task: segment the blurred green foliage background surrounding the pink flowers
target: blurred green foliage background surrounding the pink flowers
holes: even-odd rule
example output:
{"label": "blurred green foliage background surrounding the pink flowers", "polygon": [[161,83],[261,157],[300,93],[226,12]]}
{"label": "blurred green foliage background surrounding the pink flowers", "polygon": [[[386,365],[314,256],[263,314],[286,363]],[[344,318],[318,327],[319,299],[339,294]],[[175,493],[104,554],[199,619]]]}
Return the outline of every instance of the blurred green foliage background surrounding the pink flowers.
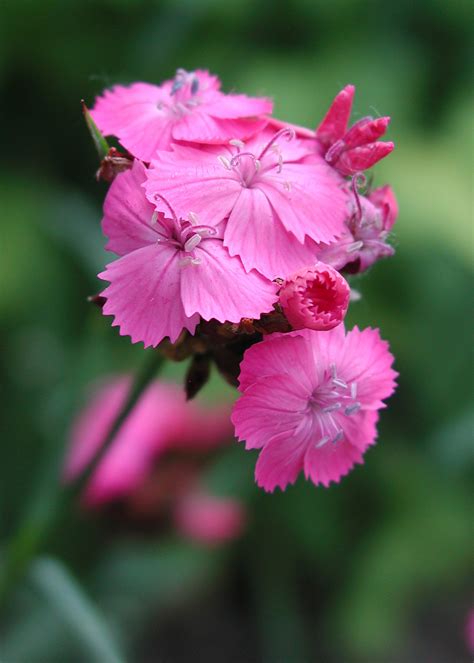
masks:
{"label": "blurred green foliage background surrounding the pink flowers", "polygon": [[[86,385],[143,361],[86,301],[106,260],[106,186],[81,98],[201,67],[314,127],[354,83],[356,118],[393,118],[396,151],[374,172],[400,204],[397,254],[358,279],[350,313],[381,328],[400,372],[365,465],[329,490],[299,480],[269,496],[232,445],[206,480],[243,498],[250,522],[214,550],[68,513],[2,613],[2,663],[110,648],[138,663],[469,660],[470,20],[463,0],[0,3],[3,549],[32,505],[48,511]],[[221,391],[214,376],[202,398]]]}

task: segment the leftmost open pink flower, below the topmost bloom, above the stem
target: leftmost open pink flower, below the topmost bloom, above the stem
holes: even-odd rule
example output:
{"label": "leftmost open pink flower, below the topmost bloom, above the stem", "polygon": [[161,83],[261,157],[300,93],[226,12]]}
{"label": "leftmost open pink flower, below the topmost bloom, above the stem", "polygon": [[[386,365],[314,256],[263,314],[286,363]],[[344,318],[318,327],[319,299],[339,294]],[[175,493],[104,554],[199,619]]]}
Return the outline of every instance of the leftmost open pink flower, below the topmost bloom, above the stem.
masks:
{"label": "leftmost open pink flower, below the topmost bloom, above the stem", "polygon": [[156,213],[145,198],[145,179],[146,168],[135,162],[114,180],[104,206],[107,249],[122,257],[99,274],[110,282],[103,312],[115,316],[120,333],[156,346],[165,336],[174,342],[183,329],[193,333],[200,317],[239,322],[270,311],[275,284],[247,273],[218,230],[195,215]]}

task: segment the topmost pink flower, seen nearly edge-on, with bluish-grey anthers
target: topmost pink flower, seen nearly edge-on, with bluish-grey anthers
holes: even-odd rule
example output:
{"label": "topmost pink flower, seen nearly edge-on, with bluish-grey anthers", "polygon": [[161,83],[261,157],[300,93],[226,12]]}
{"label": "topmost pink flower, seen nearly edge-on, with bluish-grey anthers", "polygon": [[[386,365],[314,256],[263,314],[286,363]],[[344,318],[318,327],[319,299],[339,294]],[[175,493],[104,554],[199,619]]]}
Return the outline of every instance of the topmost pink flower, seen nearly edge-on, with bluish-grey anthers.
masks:
{"label": "topmost pink flower, seen nearly edge-on, with bluish-grey anthers", "polygon": [[117,85],[96,101],[91,115],[99,129],[114,135],[135,157],[150,161],[175,141],[225,143],[262,129],[272,112],[269,99],[220,92],[207,71],[178,69],[162,85]]}

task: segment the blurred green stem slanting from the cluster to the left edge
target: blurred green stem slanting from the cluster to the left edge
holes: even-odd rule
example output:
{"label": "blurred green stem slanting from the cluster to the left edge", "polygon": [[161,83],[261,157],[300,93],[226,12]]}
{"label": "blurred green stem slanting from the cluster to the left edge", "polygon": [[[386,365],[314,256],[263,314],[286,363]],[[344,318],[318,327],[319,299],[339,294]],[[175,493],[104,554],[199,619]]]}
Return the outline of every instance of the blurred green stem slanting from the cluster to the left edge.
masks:
{"label": "blurred green stem slanting from the cluster to the left edge", "polygon": [[[1,560],[0,571],[0,606],[4,604],[11,590],[21,580],[33,558],[42,552],[48,536],[54,528],[62,522],[62,515],[74,507],[78,496],[89,482],[92,474],[110,448],[117,432],[125,419],[135,407],[138,399],[157,375],[164,358],[156,351],[149,355],[135,377],[128,398],[118,413],[103,444],[97,449],[90,463],[77,480],[67,487],[59,483],[60,469],[63,461],[63,451],[56,462],[51,464],[46,481],[40,483],[38,499],[34,499],[26,517],[16,534],[12,537],[5,556]],[[45,492],[46,491],[46,492]],[[46,498],[45,498],[46,495]],[[36,491],[34,497],[36,498]]]}

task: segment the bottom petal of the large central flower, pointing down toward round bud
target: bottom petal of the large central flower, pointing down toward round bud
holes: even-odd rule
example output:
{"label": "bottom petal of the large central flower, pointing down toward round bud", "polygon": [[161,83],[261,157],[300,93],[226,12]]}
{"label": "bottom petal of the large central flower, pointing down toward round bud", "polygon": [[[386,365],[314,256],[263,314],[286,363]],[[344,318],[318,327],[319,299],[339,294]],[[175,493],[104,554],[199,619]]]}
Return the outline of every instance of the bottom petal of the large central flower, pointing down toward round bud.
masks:
{"label": "bottom petal of the large central flower, pointing down toward round bud", "polygon": [[267,278],[284,278],[315,261],[317,246],[300,243],[285,230],[260,189],[241,189],[224,234],[230,255],[238,255],[245,269]]}

